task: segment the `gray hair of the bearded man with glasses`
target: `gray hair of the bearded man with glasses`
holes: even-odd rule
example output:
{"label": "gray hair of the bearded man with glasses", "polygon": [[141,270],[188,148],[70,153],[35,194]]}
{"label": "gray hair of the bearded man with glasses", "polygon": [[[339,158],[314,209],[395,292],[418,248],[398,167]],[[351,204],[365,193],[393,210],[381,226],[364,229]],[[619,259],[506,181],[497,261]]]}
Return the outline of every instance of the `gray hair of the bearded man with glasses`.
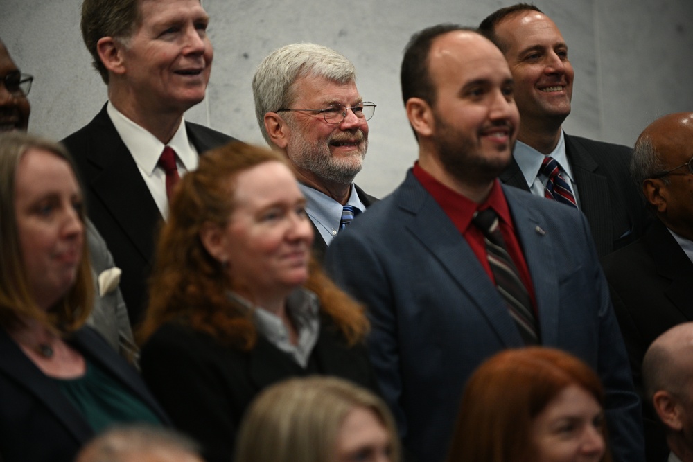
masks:
{"label": "gray hair of the bearded man with glasses", "polygon": [[356,81],[351,61],[331,48],[316,44],[282,46],[265,57],[253,77],[255,115],[265,141],[265,114],[290,106],[295,100],[294,84],[299,78],[315,75],[339,84]]}

